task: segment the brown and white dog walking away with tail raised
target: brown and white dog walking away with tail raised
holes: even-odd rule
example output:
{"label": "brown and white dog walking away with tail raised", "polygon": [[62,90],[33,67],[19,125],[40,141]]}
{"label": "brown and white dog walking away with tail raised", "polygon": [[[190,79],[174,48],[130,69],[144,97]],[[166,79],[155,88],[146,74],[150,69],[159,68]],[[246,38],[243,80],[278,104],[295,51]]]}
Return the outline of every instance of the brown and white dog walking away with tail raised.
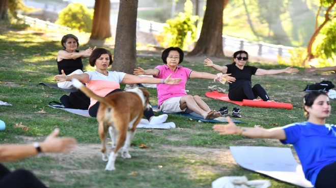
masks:
{"label": "brown and white dog walking away with tail raised", "polygon": [[[99,123],[98,134],[102,144],[102,159],[108,161],[105,170],[115,170],[115,161],[121,147],[122,158],[131,158],[128,149],[134,137],[136,126],[144,114],[144,109],[150,108],[150,94],[146,89],[137,87],[111,93],[106,97],[99,97],[78,80],[72,79],[72,83],[88,97],[100,102],[97,121]],[[105,146],[107,130],[112,141],[112,151],[109,156],[107,156]]]}

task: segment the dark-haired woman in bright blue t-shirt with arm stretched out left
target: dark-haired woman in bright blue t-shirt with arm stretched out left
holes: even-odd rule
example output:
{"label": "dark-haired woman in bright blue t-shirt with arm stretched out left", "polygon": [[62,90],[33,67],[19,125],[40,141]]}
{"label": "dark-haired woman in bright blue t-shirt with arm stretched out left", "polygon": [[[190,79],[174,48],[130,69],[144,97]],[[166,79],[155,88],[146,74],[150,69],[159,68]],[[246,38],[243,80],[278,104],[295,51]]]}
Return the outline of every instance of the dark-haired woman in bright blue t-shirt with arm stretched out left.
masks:
{"label": "dark-haired woman in bright blue t-shirt with arm stretched out left", "polygon": [[331,106],[325,92],[312,91],[303,99],[305,122],[292,123],[281,128],[260,129],[238,127],[228,118],[229,124],[215,124],[220,135],[244,135],[250,138],[279,139],[293,144],[307,180],[316,188],[335,187],[336,179],[336,126],[326,124]]}

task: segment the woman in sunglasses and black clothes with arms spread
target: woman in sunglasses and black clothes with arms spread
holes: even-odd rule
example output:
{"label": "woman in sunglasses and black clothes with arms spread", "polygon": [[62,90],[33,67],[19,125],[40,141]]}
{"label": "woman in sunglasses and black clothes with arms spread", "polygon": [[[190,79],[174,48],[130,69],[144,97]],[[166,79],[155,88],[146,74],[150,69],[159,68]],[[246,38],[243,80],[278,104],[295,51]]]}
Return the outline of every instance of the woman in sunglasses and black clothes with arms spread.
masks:
{"label": "woman in sunglasses and black clothes with arms spread", "polygon": [[233,54],[233,62],[231,65],[219,66],[213,64],[209,58],[204,60],[204,66],[212,67],[223,74],[231,74],[230,76],[236,78],[235,82],[229,83],[229,99],[232,101],[242,101],[243,99],[259,100],[257,98],[260,97],[263,101],[274,102],[269,98],[266,90],[260,84],[255,84],[252,87],[252,75],[264,76],[279,73],[291,74],[299,72],[298,69],[293,69],[292,67],[281,70],[259,69],[257,67],[245,65],[247,59],[248,53],[240,50]]}

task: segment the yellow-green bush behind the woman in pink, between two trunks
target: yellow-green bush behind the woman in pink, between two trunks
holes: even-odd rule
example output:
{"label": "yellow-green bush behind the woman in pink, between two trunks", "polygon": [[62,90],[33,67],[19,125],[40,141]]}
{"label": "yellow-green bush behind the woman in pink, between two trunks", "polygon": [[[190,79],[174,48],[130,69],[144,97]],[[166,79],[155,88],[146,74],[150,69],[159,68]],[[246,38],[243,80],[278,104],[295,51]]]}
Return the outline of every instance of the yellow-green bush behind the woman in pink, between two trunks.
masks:
{"label": "yellow-green bush behind the woman in pink, between two trunks", "polygon": [[197,37],[195,21],[198,16],[192,15],[192,2],[187,0],[184,4],[184,12],[180,12],[174,19],[166,21],[162,35],[164,36],[161,43],[164,47],[177,46],[182,50],[187,50]]}

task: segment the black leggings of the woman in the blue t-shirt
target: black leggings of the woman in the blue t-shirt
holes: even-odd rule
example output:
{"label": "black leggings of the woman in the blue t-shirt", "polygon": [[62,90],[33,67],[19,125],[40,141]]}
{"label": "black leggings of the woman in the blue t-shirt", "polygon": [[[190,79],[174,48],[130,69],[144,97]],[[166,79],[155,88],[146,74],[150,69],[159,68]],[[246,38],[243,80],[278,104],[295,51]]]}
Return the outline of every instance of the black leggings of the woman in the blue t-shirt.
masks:
{"label": "black leggings of the woman in the blue t-shirt", "polygon": [[336,162],[322,168],[316,178],[315,188],[334,188],[336,179]]}

